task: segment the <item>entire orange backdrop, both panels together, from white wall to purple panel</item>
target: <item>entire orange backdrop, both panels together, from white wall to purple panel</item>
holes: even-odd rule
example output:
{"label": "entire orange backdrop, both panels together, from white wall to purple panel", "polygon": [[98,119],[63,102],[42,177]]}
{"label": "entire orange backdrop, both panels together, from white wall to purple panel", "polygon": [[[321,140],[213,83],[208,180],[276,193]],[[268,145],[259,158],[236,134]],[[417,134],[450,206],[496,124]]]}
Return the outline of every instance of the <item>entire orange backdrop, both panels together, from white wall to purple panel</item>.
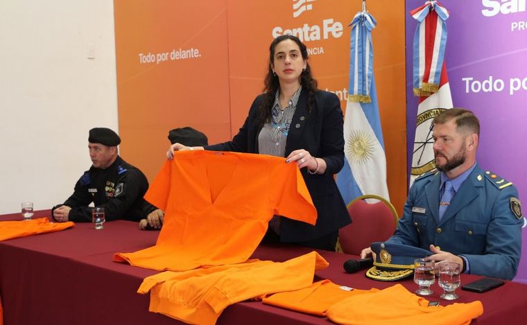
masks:
{"label": "entire orange backdrop, both panels together, from white wall to purple panel", "polygon": [[[209,143],[238,132],[261,93],[268,46],[282,33],[299,36],[310,51],[320,89],[334,91],[345,109],[349,28],[361,1],[114,0],[121,152],[152,179],[168,146],[168,130],[190,125]],[[307,7],[306,7],[307,8]],[[374,73],[388,163],[390,199],[406,199],[404,3],[368,1]],[[139,53],[198,49],[199,58],[141,63]],[[156,56],[157,60],[157,56]]]}

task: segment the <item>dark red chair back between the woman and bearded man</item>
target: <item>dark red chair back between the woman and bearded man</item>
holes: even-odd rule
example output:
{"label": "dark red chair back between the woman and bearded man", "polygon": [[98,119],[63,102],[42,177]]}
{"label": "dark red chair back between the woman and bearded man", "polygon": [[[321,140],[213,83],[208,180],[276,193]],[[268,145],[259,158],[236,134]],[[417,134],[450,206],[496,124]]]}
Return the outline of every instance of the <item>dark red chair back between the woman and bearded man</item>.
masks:
{"label": "dark red chair back between the woman and bearded man", "polygon": [[[365,199],[376,199],[368,203]],[[347,205],[352,223],[338,231],[338,242],[346,254],[360,255],[371,243],[393,235],[399,218],[393,205],[377,195],[362,195]]]}

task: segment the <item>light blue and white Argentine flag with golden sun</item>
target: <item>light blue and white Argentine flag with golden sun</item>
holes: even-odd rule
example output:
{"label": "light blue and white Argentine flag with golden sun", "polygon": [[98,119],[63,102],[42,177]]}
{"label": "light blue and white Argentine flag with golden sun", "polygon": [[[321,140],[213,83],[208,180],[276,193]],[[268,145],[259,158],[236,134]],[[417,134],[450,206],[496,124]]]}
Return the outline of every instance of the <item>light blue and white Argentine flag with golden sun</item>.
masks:
{"label": "light blue and white Argentine flag with golden sun", "polygon": [[373,76],[371,30],[377,22],[358,12],[352,23],[349,58],[349,96],[344,116],[344,167],[337,185],[349,204],[355,197],[374,194],[390,200],[386,184],[386,155]]}

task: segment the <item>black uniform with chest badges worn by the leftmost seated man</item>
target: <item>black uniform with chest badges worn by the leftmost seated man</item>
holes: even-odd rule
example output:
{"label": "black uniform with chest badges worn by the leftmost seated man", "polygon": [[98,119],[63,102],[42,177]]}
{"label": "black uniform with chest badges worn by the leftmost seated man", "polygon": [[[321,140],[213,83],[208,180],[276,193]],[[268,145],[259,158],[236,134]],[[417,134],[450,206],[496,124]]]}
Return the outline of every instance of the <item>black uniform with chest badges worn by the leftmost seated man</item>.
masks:
{"label": "black uniform with chest badges worn by the leftmost seated man", "polygon": [[75,185],[74,193],[64,204],[53,207],[53,211],[62,205],[71,207],[69,221],[92,222],[92,207],[105,208],[105,218],[111,220],[139,221],[148,213],[157,209],[146,202],[143,196],[148,190],[148,179],[134,166],[117,156],[108,168],[92,166]]}

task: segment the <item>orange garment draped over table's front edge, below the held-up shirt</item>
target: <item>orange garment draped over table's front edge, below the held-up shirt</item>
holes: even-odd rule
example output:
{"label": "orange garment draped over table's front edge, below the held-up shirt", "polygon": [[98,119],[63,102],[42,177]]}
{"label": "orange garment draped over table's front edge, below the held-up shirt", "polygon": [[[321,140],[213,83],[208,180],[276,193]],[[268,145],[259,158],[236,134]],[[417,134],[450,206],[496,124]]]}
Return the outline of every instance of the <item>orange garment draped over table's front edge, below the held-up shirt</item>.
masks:
{"label": "orange garment draped over table's front edge, below the held-up shirt", "polygon": [[216,324],[223,310],[239,301],[271,292],[311,286],[316,270],[329,263],[317,252],[283,263],[251,261],[187,272],[163,272],[144,279],[139,293],[150,290],[150,311],[189,324]]}

